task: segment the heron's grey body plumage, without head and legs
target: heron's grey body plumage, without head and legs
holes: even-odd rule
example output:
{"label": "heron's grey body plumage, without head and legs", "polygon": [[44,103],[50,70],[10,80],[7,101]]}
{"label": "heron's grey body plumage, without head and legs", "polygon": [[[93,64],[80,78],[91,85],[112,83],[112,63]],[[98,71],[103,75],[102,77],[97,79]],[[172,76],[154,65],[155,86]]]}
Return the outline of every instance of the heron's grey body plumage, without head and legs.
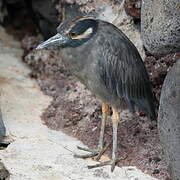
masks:
{"label": "heron's grey body plumage, without head and legs", "polygon": [[131,112],[136,105],[155,120],[149,77],[136,47],[117,27],[98,21],[91,39],[76,50],[62,49],[66,67],[103,102],[117,108],[126,103]]}

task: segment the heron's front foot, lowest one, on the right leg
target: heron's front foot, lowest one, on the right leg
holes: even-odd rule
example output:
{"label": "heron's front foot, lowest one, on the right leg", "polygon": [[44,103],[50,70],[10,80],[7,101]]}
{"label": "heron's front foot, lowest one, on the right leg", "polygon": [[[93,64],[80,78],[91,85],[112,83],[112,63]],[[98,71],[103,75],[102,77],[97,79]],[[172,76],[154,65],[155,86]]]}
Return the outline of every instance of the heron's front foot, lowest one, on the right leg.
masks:
{"label": "heron's front foot, lowest one, on the right leg", "polygon": [[93,169],[93,168],[97,168],[97,167],[111,165],[111,172],[113,172],[116,164],[119,161],[124,160],[126,158],[127,158],[127,156],[126,157],[122,157],[122,158],[115,158],[115,159],[111,159],[109,161],[100,162],[99,164],[95,164],[95,165],[91,165],[91,166],[87,166],[87,167],[88,167],[88,169]]}

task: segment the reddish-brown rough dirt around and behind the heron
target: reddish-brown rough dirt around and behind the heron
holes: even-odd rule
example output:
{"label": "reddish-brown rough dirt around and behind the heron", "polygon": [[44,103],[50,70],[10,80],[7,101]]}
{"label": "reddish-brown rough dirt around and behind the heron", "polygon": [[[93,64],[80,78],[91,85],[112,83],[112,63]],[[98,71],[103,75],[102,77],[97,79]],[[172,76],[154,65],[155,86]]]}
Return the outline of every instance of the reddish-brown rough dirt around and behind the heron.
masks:
{"label": "reddish-brown rough dirt around and behind the heron", "polygon": [[[100,131],[100,102],[69,74],[63,66],[60,52],[29,51],[28,49],[31,49],[29,47],[29,44],[31,44],[30,40],[36,42],[32,37],[26,37],[23,41],[24,48],[26,47],[26,42],[28,42],[24,61],[32,67],[30,76],[37,79],[45,94],[53,97],[52,103],[42,115],[42,121],[49,128],[57,131],[62,130],[78,138],[88,147],[95,148]],[[35,45],[32,43],[32,46],[34,47]],[[156,66],[157,63],[166,64],[167,67],[171,66],[175,61],[172,60],[175,55],[170,57],[156,61],[153,57],[148,57],[145,61],[151,73],[151,80],[154,81],[154,92],[158,96],[165,77],[165,71],[162,68],[163,76],[159,76],[161,71],[159,68],[153,68],[153,66]],[[168,61],[168,58],[171,60]],[[158,75],[154,76],[156,73]],[[110,142],[111,138],[112,128],[109,120],[106,126],[105,141]],[[167,165],[163,158],[156,123],[152,124],[144,116],[129,118],[128,121],[119,125],[118,146],[119,157],[128,155],[125,160],[118,163],[119,166],[137,166],[145,173],[160,180],[170,179]],[[109,157],[111,156],[111,148],[108,149],[106,154]]]}

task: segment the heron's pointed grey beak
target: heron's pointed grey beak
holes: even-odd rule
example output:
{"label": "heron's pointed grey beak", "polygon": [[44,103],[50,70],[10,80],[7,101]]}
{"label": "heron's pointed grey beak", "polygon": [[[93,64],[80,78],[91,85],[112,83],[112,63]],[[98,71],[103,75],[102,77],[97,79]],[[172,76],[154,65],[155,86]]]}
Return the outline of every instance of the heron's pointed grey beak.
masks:
{"label": "heron's pointed grey beak", "polygon": [[49,38],[48,40],[42,42],[39,44],[36,49],[43,49],[50,46],[61,46],[65,44],[65,42],[68,40],[68,37],[61,34],[56,34],[55,36]]}

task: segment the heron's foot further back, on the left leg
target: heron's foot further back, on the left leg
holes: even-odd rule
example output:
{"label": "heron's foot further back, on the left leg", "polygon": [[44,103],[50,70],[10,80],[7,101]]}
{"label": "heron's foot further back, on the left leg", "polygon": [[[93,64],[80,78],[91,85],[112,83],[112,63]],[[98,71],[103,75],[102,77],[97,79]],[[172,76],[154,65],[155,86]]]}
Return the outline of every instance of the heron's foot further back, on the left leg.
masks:
{"label": "heron's foot further back, on the left leg", "polygon": [[101,156],[104,154],[104,152],[107,150],[107,148],[110,146],[110,144],[111,143],[109,143],[104,148],[98,148],[97,150],[77,146],[78,149],[83,150],[83,151],[87,151],[87,152],[90,152],[90,153],[85,154],[85,155],[77,155],[77,154],[75,154],[74,157],[82,158],[82,159],[94,158],[95,160],[98,161],[101,158]]}

